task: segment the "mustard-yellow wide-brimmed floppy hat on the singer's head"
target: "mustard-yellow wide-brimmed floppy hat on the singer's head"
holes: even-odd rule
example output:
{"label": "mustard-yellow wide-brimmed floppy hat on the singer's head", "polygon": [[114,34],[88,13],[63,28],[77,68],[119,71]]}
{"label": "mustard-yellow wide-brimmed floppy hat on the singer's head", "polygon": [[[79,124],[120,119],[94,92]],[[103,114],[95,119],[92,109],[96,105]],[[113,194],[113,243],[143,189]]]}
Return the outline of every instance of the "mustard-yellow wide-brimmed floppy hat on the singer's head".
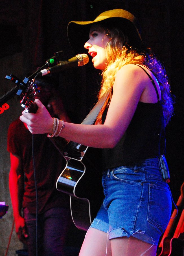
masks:
{"label": "mustard-yellow wide-brimmed floppy hat on the singer's head", "polygon": [[[75,50],[84,50],[84,44],[89,39],[89,31],[92,24],[102,24],[120,29],[128,36],[128,44],[133,48],[145,49],[140,35],[140,24],[130,12],[122,9],[114,9],[102,12],[93,21],[71,21],[67,27],[68,40]],[[109,27],[109,28],[110,28]]]}

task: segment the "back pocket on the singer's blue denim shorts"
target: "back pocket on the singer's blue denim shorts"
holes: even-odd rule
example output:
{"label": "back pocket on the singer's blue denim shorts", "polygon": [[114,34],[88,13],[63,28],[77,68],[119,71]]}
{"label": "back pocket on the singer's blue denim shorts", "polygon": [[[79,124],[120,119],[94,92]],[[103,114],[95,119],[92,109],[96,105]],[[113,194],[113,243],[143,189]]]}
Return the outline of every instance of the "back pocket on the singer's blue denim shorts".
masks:
{"label": "back pocket on the singer's blue denim shorts", "polygon": [[148,221],[164,232],[171,215],[172,201],[168,188],[149,184]]}

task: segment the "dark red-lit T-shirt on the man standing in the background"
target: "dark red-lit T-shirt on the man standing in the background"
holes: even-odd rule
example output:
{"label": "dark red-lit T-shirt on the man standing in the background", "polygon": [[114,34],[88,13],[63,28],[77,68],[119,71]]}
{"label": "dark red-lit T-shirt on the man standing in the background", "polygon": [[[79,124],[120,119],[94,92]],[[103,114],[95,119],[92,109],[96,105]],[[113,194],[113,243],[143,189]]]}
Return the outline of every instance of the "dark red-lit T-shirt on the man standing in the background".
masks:
{"label": "dark red-lit T-shirt on the man standing in the background", "polygon": [[[8,129],[7,150],[20,157],[25,173],[23,208],[36,213],[36,191],[32,160],[32,134],[19,119]],[[46,134],[34,135],[34,161],[38,190],[38,212],[53,207],[69,208],[69,196],[56,189],[56,181],[66,161]]]}

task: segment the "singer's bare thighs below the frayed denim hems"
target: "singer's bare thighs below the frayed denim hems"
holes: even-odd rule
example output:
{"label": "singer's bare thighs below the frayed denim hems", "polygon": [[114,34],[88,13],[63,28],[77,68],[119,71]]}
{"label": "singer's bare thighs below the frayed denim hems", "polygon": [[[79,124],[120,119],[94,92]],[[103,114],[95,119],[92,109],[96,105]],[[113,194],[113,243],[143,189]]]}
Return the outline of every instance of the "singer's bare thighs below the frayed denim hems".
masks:
{"label": "singer's bare thighs below the frayed denim hems", "polygon": [[108,233],[92,227],[86,233],[79,256],[155,256],[157,246],[134,237],[109,241]]}

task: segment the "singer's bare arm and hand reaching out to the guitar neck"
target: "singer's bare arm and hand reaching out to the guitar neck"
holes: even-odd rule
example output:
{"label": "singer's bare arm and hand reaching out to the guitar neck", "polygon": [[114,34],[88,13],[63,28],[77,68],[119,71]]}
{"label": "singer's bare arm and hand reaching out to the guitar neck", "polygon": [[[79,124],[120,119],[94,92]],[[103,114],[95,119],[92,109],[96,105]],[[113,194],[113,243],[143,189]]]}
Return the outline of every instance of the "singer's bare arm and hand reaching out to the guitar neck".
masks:
{"label": "singer's bare arm and hand reaching out to the guitar neck", "polygon": [[[60,136],[90,147],[114,147],[128,128],[146,83],[150,82],[143,73],[144,71],[136,65],[122,67],[116,75],[113,96],[104,124],[81,125],[65,122]],[[38,105],[37,113],[23,111],[21,121],[28,124],[32,134],[52,133],[52,118],[40,101],[35,102]]]}

